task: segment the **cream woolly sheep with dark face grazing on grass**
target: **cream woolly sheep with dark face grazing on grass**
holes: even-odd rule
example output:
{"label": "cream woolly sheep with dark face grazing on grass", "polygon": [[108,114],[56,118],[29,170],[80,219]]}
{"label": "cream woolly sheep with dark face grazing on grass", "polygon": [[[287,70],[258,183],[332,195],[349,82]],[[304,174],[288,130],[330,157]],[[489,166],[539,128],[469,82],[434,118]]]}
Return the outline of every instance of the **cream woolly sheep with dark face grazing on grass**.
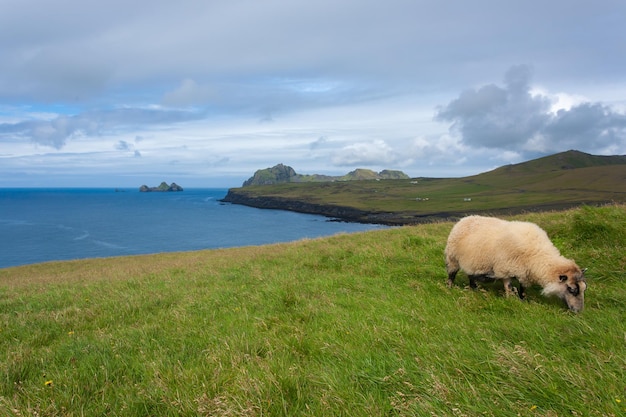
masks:
{"label": "cream woolly sheep with dark face grazing on grass", "polygon": [[464,217],[450,231],[444,253],[448,287],[463,270],[471,288],[476,288],[476,280],[500,279],[508,296],[515,292],[511,279],[517,278],[522,299],[526,288],[538,284],[544,296],[561,298],[573,312],[583,309],[586,269],[561,256],[547,233],[534,223]]}

